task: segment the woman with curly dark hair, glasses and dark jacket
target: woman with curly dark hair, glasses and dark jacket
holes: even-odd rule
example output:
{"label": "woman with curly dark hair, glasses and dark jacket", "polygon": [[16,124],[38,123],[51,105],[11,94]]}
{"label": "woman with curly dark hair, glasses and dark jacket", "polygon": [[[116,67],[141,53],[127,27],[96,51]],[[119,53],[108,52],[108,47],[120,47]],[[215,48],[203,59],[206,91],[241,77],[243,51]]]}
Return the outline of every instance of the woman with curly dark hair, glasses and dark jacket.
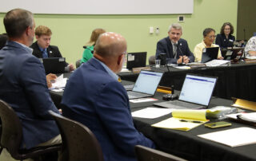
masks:
{"label": "woman with curly dark hair, glasses and dark jacket", "polygon": [[215,43],[219,45],[220,48],[233,47],[235,37],[232,35],[234,33],[234,27],[230,22],[226,22],[222,25],[221,33],[218,33]]}

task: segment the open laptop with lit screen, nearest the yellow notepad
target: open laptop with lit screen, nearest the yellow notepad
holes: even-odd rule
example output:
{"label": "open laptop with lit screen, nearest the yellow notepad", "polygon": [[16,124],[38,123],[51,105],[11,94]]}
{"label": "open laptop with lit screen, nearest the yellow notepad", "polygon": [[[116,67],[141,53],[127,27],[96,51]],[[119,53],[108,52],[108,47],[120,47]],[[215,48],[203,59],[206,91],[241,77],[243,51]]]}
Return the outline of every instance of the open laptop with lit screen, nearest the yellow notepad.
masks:
{"label": "open laptop with lit screen, nearest the yellow notepad", "polygon": [[163,108],[200,109],[207,108],[214,92],[217,77],[202,77],[186,74],[178,100],[156,103]]}

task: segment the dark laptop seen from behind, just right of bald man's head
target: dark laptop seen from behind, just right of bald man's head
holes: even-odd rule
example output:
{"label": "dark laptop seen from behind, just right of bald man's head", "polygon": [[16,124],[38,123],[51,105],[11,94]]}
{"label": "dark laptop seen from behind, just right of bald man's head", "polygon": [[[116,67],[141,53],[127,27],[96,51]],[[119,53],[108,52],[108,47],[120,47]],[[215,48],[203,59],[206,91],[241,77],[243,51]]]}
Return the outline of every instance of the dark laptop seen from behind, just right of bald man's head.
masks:
{"label": "dark laptop seen from behind, just right of bald man's head", "polygon": [[127,53],[126,69],[146,67],[146,52]]}

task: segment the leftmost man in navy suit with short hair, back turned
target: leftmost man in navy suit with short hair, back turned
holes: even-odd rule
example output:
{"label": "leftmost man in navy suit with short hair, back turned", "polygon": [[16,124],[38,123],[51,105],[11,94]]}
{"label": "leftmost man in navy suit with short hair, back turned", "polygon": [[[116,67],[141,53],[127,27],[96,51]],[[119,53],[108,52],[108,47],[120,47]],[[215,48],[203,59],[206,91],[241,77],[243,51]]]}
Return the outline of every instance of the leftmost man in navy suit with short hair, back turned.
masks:
{"label": "leftmost man in navy suit with short hair, back turned", "polygon": [[9,41],[0,50],[0,99],[22,122],[22,148],[61,143],[48,110],[58,112],[46,83],[42,63],[32,55],[34,18],[30,11],[10,10],[4,18]]}

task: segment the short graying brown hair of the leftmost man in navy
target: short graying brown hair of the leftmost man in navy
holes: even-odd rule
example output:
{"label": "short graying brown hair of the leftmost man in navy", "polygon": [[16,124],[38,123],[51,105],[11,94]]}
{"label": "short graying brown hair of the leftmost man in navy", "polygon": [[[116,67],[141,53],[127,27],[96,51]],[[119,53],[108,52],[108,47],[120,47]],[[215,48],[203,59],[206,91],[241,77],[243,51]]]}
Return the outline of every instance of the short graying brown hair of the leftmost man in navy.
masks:
{"label": "short graying brown hair of the leftmost man in navy", "polygon": [[14,9],[7,12],[3,19],[9,37],[20,37],[28,26],[34,25],[33,14],[28,10]]}

